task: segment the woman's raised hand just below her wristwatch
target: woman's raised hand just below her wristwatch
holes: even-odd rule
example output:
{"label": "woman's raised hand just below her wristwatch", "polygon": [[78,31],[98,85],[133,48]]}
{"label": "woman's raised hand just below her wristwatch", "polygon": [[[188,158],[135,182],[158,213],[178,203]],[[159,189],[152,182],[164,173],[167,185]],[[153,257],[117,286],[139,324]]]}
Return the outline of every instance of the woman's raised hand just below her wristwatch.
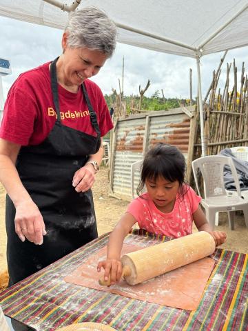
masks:
{"label": "woman's raised hand just below her wristwatch", "polygon": [[76,192],[86,192],[92,188],[95,181],[96,171],[92,167],[92,164],[87,163],[82,168],[77,170],[72,179],[72,186],[74,186]]}

